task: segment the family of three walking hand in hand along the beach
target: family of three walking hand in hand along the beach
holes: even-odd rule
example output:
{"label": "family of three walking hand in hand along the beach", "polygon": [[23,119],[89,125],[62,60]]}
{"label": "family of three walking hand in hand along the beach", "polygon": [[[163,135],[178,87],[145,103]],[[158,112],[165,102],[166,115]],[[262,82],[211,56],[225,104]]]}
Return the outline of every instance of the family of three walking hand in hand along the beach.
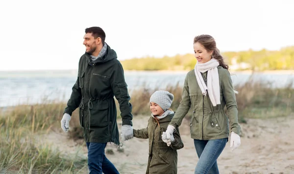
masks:
{"label": "family of three walking hand in hand along the beach", "polygon": [[108,142],[120,145],[114,97],[119,101],[121,111],[122,140],[133,137],[149,140],[146,174],[177,174],[177,149],[184,147],[179,126],[190,108],[193,110],[190,133],[199,158],[195,174],[220,173],[217,159],[229,135],[232,150],[240,146],[241,140],[228,65],[212,36],[194,38],[197,63],[186,75],[182,100],[176,112],[170,108],[173,100],[170,92],[154,92],[149,100],[151,116],[143,129],[133,129],[132,105],[123,67],[116,52],[105,43],[105,32],[100,27],[86,28],[83,44],[86,52],[80,57],[77,79],[61,127],[66,132],[69,130],[71,115],[79,108],[90,174],[119,174],[104,153]]}

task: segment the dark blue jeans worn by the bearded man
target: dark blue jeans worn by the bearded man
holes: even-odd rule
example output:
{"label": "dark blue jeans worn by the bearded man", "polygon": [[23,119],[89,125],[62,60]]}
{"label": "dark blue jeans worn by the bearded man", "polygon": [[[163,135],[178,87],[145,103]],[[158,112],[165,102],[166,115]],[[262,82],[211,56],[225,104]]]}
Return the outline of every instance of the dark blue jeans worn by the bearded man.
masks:
{"label": "dark blue jeans worn by the bearded man", "polygon": [[106,143],[86,143],[88,148],[88,167],[90,174],[120,174],[106,158]]}

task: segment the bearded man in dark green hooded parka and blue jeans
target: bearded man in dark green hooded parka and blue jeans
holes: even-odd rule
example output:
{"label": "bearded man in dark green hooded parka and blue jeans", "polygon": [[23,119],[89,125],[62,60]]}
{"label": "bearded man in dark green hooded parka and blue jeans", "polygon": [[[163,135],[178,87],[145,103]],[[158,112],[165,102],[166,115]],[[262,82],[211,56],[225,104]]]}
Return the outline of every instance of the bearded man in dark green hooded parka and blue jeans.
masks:
{"label": "bearded man in dark green hooded parka and blue jeans", "polygon": [[123,67],[116,52],[104,42],[102,28],[86,28],[85,33],[83,44],[86,52],[79,60],[77,80],[64,110],[61,127],[65,132],[69,130],[71,115],[79,107],[90,174],[119,174],[106,158],[104,149],[107,142],[120,145],[114,96],[120,104],[123,140],[133,137],[132,105]]}

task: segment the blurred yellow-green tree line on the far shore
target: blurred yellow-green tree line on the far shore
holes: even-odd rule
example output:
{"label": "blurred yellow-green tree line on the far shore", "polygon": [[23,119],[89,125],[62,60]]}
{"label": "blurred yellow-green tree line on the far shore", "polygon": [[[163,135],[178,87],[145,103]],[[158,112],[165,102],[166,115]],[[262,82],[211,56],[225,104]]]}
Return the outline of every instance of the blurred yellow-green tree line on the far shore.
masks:
{"label": "blurred yellow-green tree line on the far shore", "polygon": [[[294,46],[280,50],[246,50],[222,52],[224,61],[234,70],[293,70]],[[137,71],[192,70],[196,64],[194,54],[164,57],[132,58],[121,61],[123,69]]]}

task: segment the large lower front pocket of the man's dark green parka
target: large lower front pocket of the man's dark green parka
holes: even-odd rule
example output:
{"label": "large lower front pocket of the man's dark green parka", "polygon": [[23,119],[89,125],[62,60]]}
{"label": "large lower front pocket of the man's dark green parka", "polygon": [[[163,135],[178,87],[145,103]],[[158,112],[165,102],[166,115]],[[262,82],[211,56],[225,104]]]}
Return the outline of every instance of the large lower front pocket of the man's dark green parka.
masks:
{"label": "large lower front pocket of the man's dark green parka", "polygon": [[90,108],[90,126],[105,127],[108,125],[108,102],[92,103]]}

